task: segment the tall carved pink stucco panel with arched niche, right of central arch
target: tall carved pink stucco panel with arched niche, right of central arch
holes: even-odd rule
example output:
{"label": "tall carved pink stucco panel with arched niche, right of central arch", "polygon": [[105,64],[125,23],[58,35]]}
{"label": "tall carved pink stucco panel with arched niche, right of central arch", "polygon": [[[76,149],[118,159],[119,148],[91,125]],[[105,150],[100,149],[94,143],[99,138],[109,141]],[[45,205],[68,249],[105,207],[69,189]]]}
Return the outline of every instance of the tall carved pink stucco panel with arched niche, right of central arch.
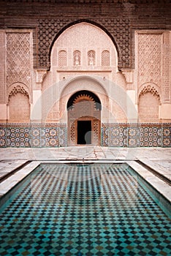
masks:
{"label": "tall carved pink stucco panel with arched niche, right of central arch", "polygon": [[[137,104],[140,121],[170,122],[170,31],[136,32]],[[168,105],[169,104],[169,105]]]}

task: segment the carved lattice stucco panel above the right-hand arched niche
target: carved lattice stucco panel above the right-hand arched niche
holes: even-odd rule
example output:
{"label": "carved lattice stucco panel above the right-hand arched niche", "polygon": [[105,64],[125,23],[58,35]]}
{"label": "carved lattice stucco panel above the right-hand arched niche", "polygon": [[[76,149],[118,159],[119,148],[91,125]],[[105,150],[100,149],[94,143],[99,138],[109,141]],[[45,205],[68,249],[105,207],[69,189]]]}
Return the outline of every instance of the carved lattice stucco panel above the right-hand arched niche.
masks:
{"label": "carved lattice stucco panel above the right-hand arched niche", "polygon": [[145,83],[156,84],[161,103],[171,100],[170,31],[137,32],[137,91]]}

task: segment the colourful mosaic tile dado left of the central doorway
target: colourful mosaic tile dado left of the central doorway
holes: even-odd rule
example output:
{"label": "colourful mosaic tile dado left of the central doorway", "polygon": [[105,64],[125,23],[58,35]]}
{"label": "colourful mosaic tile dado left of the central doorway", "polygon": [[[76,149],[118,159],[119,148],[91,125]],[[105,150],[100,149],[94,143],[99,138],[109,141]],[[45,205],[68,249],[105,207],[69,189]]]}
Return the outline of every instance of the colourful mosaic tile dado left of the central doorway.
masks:
{"label": "colourful mosaic tile dado left of the central doorway", "polygon": [[66,146],[66,124],[9,124],[0,127],[0,147]]}

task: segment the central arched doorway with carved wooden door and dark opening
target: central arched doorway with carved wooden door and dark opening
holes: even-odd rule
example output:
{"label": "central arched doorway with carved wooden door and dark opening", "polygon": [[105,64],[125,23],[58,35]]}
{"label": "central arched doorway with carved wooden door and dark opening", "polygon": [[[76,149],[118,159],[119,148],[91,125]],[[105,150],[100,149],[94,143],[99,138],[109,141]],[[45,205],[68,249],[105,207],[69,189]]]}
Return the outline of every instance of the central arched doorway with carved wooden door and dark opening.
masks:
{"label": "central arched doorway with carved wooden door and dark opening", "polygon": [[100,145],[101,102],[91,91],[77,91],[69,98],[68,145]]}

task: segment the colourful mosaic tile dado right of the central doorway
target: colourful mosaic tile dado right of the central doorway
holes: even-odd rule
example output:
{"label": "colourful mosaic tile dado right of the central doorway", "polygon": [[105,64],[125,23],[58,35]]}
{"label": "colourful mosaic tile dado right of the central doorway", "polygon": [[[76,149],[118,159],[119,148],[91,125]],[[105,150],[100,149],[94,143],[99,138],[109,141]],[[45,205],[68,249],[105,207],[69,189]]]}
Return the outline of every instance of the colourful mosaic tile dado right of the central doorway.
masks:
{"label": "colourful mosaic tile dado right of the central doorway", "polygon": [[171,124],[102,124],[102,146],[171,147]]}

